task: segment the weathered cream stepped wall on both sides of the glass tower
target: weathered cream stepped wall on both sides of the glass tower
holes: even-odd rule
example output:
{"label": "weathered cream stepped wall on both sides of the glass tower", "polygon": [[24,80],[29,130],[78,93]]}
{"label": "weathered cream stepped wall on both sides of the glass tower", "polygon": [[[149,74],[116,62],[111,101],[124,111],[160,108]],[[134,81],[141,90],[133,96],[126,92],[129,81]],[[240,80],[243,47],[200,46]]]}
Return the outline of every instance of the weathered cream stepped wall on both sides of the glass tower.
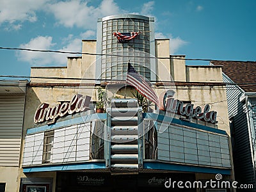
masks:
{"label": "weathered cream stepped wall on both sides of the glass tower", "polygon": [[[95,40],[83,40],[82,52],[96,52]],[[169,40],[156,40],[156,56],[169,57]],[[185,56],[171,56],[170,60],[157,61],[157,73],[163,81],[170,81],[172,74],[174,81],[201,81],[201,82],[222,82],[222,74],[220,67],[186,67],[185,60],[175,60],[175,58],[185,58]],[[86,77],[95,78],[96,56],[83,54],[81,57],[68,58],[67,67],[35,67],[31,68],[31,76],[47,76],[47,77]],[[57,80],[57,79],[31,79],[31,83],[81,83],[79,80]],[[82,83],[92,83],[91,85],[79,87],[29,87],[27,89],[25,119],[23,136],[27,129],[36,127],[33,123],[33,115],[39,104],[47,102],[51,106],[57,104],[58,101],[68,101],[76,93],[92,96],[92,100],[96,100],[96,92],[93,87],[95,81],[82,81]],[[191,100],[195,106],[205,106],[210,104],[211,110],[218,111],[218,129],[225,130],[230,136],[229,121],[227,113],[227,97],[225,87],[223,86],[177,86],[177,89],[165,86],[165,89],[174,89],[175,98],[179,100]],[[129,90],[126,90],[129,92]],[[156,87],[158,94],[164,91],[163,87]],[[124,93],[120,93],[124,95]],[[202,121],[198,121],[204,124]],[[210,124],[209,124],[210,125]],[[22,138],[23,148],[24,138]],[[231,151],[231,150],[230,150]],[[22,152],[21,152],[22,154]],[[22,171],[20,171],[22,174]],[[22,175],[20,175],[21,177]],[[23,175],[26,177],[26,175]],[[23,177],[22,176],[22,177]],[[29,175],[31,177],[31,175]],[[33,176],[34,177],[34,176]]]}

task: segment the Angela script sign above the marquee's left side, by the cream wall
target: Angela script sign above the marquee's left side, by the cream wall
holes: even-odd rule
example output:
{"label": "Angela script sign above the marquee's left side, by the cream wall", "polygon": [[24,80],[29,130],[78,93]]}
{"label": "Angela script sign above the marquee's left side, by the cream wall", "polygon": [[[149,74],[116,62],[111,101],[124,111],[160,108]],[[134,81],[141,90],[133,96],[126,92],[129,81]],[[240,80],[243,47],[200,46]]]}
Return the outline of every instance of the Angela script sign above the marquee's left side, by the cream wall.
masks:
{"label": "Angela script sign above the marquee's left side, by the cream wall", "polygon": [[52,108],[49,108],[49,104],[42,103],[36,109],[34,122],[35,124],[38,124],[48,121],[47,124],[54,124],[56,122],[56,119],[61,116],[71,115],[82,111],[88,111],[90,109],[90,100],[90,96],[76,94],[72,97],[70,102],[56,104],[56,106],[53,106]]}

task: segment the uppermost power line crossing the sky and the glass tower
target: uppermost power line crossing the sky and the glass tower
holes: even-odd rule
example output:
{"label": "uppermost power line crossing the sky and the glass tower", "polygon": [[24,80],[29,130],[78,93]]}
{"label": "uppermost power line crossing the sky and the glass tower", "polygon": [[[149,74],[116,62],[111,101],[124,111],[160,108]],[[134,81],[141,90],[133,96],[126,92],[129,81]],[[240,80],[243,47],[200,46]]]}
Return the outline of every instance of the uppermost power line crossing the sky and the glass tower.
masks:
{"label": "uppermost power line crossing the sky and the glass tower", "polygon": [[241,61],[241,60],[211,60],[211,59],[154,57],[154,56],[124,56],[124,55],[119,55],[119,54],[99,54],[99,53],[90,53],[90,52],[52,51],[52,50],[42,50],[42,49],[25,49],[25,48],[17,48],[17,47],[14,47],[14,48],[0,47],[0,49],[17,50],[17,51],[33,51],[33,52],[54,52],[54,53],[61,53],[61,54],[86,54],[86,55],[93,55],[93,56],[116,56],[116,57],[125,57],[125,58],[150,58],[150,59],[161,59],[161,60],[227,61],[227,62],[246,62],[246,63],[256,62],[256,61]]}

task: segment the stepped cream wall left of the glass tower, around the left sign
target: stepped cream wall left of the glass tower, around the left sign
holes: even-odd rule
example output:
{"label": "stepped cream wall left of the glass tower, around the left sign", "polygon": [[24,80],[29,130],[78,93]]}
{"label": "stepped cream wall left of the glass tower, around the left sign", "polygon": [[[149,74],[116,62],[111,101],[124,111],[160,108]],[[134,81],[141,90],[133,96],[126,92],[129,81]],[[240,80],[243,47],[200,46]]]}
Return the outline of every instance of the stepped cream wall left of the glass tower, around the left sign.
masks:
{"label": "stepped cream wall left of the glass tower, around the left sign", "polygon": [[[91,50],[96,51],[95,41],[87,42],[83,41],[83,52],[90,52]],[[94,48],[93,48],[94,46]],[[94,51],[94,52],[95,52]],[[69,57],[67,60],[67,67],[33,67],[31,68],[31,76],[35,77],[68,77],[68,78],[95,78],[95,56],[83,55],[82,57]],[[93,63],[93,65],[91,65]],[[93,68],[94,67],[94,68]],[[86,74],[85,74],[86,73]],[[37,125],[33,122],[36,108],[42,103],[46,102],[50,106],[59,104],[60,101],[69,101],[73,95],[80,93],[82,95],[88,95],[92,97],[92,101],[96,100],[95,87],[93,83],[95,81],[81,81],[81,80],[70,80],[70,79],[36,79],[32,78],[31,83],[68,83],[68,84],[81,84],[81,83],[92,83],[92,85],[86,86],[35,86],[28,87],[26,95],[26,105],[24,111],[24,129],[22,130],[22,145],[20,153],[20,170],[18,176],[17,191],[19,190],[20,178],[22,177],[49,177],[53,178],[52,191],[55,191],[56,186],[56,172],[38,172],[24,174],[22,172],[22,157],[24,148],[24,136],[28,129],[36,127]],[[15,175],[15,181],[17,175]],[[16,191],[16,190],[10,190]]]}

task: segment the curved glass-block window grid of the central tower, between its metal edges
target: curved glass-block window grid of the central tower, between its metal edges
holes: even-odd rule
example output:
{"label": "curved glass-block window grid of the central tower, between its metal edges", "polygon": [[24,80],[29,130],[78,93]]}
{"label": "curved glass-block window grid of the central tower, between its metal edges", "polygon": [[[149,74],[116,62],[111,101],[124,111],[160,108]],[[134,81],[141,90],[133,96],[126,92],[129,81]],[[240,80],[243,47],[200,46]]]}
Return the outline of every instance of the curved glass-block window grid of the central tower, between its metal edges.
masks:
{"label": "curved glass-block window grid of the central tower, between its metal edges", "polygon": [[[105,60],[102,57],[103,63],[111,63],[110,71],[106,71],[106,68],[101,68],[101,77],[102,79],[114,78],[114,79],[125,79],[125,74],[127,72],[127,67],[125,70],[125,66],[127,66],[128,56],[142,56],[145,57],[150,56],[148,53],[150,52],[150,41],[149,41],[149,33],[143,33],[143,35],[139,35],[134,40],[131,40],[125,44],[120,44],[116,40],[115,36],[112,35],[113,32],[120,31],[121,33],[127,33],[132,31],[149,31],[149,22],[148,20],[143,19],[111,19],[102,22],[102,54],[120,54],[125,57],[112,57],[109,60]],[[131,48],[131,49],[129,49]],[[128,50],[129,49],[129,50]],[[118,51],[118,52],[116,52]],[[143,55],[140,55],[140,53]],[[146,52],[146,54],[145,54]],[[131,63],[137,63],[139,65],[136,68],[136,71],[141,74],[141,76],[150,79],[150,70],[148,70],[148,74],[146,74],[145,70],[141,70],[142,67],[150,68],[150,59],[145,60],[145,58],[130,58]],[[136,61],[134,61],[134,59]],[[140,60],[141,59],[141,60]],[[113,66],[121,65],[121,70],[118,70],[116,73],[116,68]],[[141,67],[140,67],[141,66]],[[108,68],[108,67],[107,67]],[[118,74],[120,74],[118,76]],[[99,74],[100,75],[100,74]]]}

